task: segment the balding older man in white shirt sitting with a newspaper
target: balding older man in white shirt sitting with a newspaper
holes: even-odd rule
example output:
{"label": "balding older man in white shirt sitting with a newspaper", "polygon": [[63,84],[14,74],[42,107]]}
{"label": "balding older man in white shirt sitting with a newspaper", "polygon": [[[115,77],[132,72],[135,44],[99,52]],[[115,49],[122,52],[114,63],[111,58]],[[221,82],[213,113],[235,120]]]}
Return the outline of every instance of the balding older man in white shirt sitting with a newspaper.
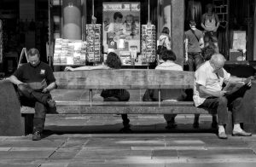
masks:
{"label": "balding older man in white shirt sitting with a newspaper", "polygon": [[[195,107],[216,109],[218,115],[218,137],[227,139],[224,125],[228,123],[228,107],[233,115],[234,129],[232,135],[250,136],[241,130],[240,124],[244,122],[243,112],[240,110],[242,95],[251,86],[251,78],[231,77],[230,73],[224,70],[224,56],[220,54],[212,55],[195,71],[195,85],[193,99]],[[223,90],[223,83],[242,82],[244,85],[230,95]]]}

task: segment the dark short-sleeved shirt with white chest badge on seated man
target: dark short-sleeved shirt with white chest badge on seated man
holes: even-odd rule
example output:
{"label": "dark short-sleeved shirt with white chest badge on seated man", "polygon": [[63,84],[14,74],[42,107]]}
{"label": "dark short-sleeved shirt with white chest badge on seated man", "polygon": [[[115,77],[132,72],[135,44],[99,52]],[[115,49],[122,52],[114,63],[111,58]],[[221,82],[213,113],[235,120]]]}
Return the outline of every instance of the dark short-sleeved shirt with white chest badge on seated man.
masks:
{"label": "dark short-sleeved shirt with white chest badge on seated man", "polygon": [[13,75],[21,82],[30,85],[32,89],[44,89],[50,83],[55,82],[52,69],[44,62],[40,62],[38,66],[26,63],[20,66]]}

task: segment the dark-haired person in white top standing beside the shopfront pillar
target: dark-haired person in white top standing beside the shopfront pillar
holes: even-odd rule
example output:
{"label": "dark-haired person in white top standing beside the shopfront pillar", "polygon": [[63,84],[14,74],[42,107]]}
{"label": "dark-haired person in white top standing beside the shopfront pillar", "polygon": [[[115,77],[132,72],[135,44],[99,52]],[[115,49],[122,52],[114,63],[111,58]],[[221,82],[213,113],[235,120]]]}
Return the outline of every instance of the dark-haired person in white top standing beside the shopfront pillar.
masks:
{"label": "dark-haired person in white top standing beside the shopfront pillar", "polygon": [[172,49],[172,41],[171,41],[171,37],[170,37],[170,30],[168,27],[164,27],[160,37],[158,39],[158,50],[157,50],[157,54],[160,55],[160,60],[161,60],[161,53],[168,49],[171,50]]}

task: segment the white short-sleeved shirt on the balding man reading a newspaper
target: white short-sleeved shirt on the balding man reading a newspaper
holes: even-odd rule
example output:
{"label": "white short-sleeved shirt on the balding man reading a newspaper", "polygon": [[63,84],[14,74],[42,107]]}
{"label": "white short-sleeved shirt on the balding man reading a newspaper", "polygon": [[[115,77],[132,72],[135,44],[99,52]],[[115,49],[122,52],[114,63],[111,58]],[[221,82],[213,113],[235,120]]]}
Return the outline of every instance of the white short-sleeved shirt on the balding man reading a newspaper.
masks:
{"label": "white short-sleeved shirt on the balding man reading a newspaper", "polygon": [[226,72],[224,68],[219,70],[218,73],[213,72],[213,68],[210,62],[207,60],[195,71],[195,83],[194,83],[194,95],[193,100],[195,107],[200,106],[207,97],[211,95],[205,95],[199,91],[199,85],[206,87],[211,91],[220,91],[222,84],[227,83],[230,79],[230,73]]}

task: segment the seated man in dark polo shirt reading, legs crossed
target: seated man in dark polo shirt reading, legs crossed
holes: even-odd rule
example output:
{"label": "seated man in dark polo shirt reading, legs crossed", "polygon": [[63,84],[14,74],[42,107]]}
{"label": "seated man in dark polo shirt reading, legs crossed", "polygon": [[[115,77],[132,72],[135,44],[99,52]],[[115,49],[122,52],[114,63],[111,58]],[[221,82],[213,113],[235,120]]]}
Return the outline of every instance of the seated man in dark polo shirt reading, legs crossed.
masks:
{"label": "seated man in dark polo shirt reading, legs crossed", "polygon": [[49,91],[55,89],[56,83],[50,66],[40,61],[38,49],[28,50],[27,55],[29,62],[20,66],[9,80],[18,86],[21,105],[35,108],[32,140],[38,141],[44,130],[47,108],[55,107]]}

